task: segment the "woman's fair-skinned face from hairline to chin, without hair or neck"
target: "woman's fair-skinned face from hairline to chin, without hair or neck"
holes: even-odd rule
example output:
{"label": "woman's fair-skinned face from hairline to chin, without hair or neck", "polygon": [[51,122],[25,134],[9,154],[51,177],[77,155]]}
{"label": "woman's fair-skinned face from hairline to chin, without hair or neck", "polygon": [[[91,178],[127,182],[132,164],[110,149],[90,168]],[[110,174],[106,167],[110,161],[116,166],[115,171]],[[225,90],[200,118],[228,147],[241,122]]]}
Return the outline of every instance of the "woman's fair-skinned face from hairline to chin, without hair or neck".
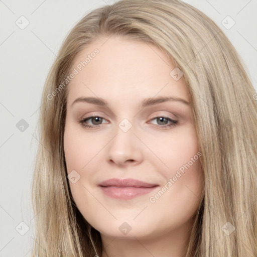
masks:
{"label": "woman's fair-skinned face from hairline to chin, without hair or neck", "polygon": [[64,151],[84,218],[102,236],[186,233],[203,184],[181,72],[158,47],[114,36],[70,71]]}

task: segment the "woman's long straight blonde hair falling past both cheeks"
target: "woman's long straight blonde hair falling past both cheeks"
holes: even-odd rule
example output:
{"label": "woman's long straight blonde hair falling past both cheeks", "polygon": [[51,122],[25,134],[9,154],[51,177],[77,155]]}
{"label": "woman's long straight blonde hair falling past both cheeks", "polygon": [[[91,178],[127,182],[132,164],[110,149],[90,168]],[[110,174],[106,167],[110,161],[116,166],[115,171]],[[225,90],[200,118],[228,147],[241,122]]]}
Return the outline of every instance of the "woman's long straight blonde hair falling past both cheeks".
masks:
{"label": "woman's long straight blonde hair falling past both cheeks", "polygon": [[78,211],[67,179],[63,135],[68,84],[56,90],[78,52],[98,37],[112,35],[154,43],[184,73],[204,174],[204,196],[186,257],[256,257],[255,91],[220,28],[179,0],[123,0],[98,8],[65,39],[47,77],[40,109],[33,257],[101,256],[100,234]]}

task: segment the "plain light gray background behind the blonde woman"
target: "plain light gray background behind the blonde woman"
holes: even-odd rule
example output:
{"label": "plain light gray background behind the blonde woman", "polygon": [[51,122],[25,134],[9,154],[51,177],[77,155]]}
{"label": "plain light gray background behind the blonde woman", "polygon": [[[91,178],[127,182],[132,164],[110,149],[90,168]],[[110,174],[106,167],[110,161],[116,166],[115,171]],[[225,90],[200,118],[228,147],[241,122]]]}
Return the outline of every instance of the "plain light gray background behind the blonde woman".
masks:
{"label": "plain light gray background behind the blonde woman", "polygon": [[[34,134],[43,85],[55,54],[80,18],[97,7],[114,2],[0,0],[0,257],[30,256],[34,240],[30,188],[36,149],[40,144]],[[257,2],[185,2],[201,10],[225,32],[245,63],[245,69],[256,90]],[[21,16],[29,21],[24,30],[16,25]],[[229,30],[221,24],[227,16],[235,21]],[[21,119],[29,124],[24,132],[16,126]],[[26,231],[25,225],[20,224],[22,221],[29,227],[25,235],[20,234]]]}

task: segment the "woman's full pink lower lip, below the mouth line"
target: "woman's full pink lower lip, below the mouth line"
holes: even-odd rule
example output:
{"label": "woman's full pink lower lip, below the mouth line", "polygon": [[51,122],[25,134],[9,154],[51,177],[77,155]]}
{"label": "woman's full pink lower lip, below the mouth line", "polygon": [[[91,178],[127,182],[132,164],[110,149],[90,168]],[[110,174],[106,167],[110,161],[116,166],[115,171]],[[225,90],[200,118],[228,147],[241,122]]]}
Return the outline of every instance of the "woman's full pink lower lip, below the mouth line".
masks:
{"label": "woman's full pink lower lip, below the mouth line", "polygon": [[154,187],[100,187],[104,194],[116,199],[129,200],[152,192]]}

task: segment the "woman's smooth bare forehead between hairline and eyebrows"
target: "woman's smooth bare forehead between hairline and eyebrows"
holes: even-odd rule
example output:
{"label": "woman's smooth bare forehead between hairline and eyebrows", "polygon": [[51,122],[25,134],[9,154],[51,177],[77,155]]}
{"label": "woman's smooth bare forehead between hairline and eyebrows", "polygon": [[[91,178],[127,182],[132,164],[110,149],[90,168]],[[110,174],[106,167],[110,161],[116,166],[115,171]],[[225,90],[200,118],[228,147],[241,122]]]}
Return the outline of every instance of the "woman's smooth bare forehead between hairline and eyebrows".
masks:
{"label": "woman's smooth bare forehead between hairline and eyebrows", "polygon": [[117,99],[172,95],[189,100],[183,79],[174,80],[176,66],[157,46],[112,36],[99,38],[81,50],[70,71],[68,103],[79,96]]}

